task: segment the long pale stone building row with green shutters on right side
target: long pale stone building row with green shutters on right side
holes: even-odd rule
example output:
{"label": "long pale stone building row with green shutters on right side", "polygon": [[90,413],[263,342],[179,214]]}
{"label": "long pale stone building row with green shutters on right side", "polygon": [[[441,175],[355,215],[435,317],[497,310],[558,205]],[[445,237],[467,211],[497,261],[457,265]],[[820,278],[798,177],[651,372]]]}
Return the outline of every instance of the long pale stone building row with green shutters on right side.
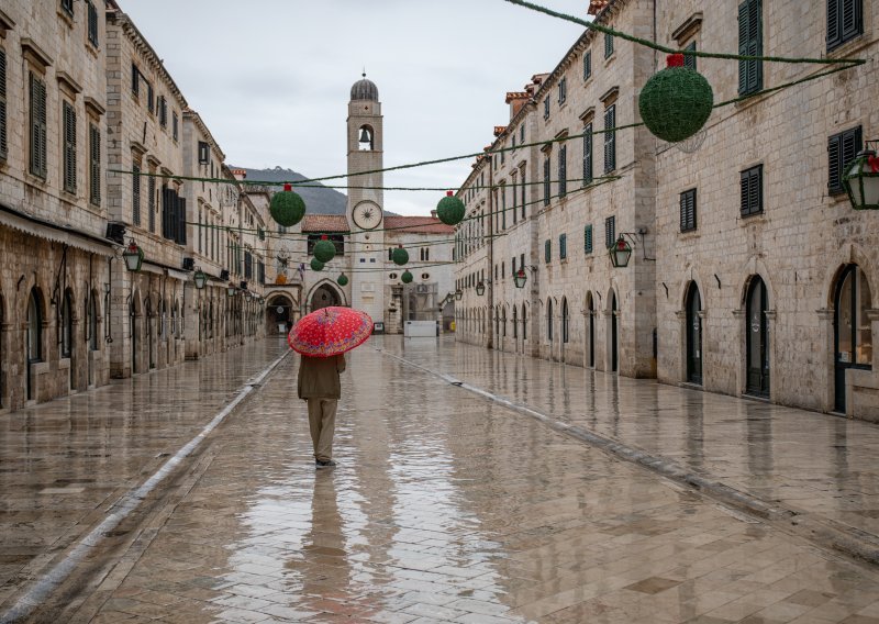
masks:
{"label": "long pale stone building row with green shutters on right side", "polygon": [[[592,9],[598,23],[672,48],[876,58],[875,3],[806,4]],[[854,18],[837,23],[837,9]],[[743,19],[754,26],[739,35]],[[550,74],[508,93],[510,122],[458,192],[475,218],[457,230],[458,338],[879,420],[877,215],[853,211],[839,186],[841,161],[877,134],[870,63],[715,109],[686,145],[643,126],[594,134],[641,121],[641,88],[664,56],[589,30]],[[696,60],[715,102],[826,70],[747,63]],[[633,247],[625,268],[607,252],[620,235]]]}

